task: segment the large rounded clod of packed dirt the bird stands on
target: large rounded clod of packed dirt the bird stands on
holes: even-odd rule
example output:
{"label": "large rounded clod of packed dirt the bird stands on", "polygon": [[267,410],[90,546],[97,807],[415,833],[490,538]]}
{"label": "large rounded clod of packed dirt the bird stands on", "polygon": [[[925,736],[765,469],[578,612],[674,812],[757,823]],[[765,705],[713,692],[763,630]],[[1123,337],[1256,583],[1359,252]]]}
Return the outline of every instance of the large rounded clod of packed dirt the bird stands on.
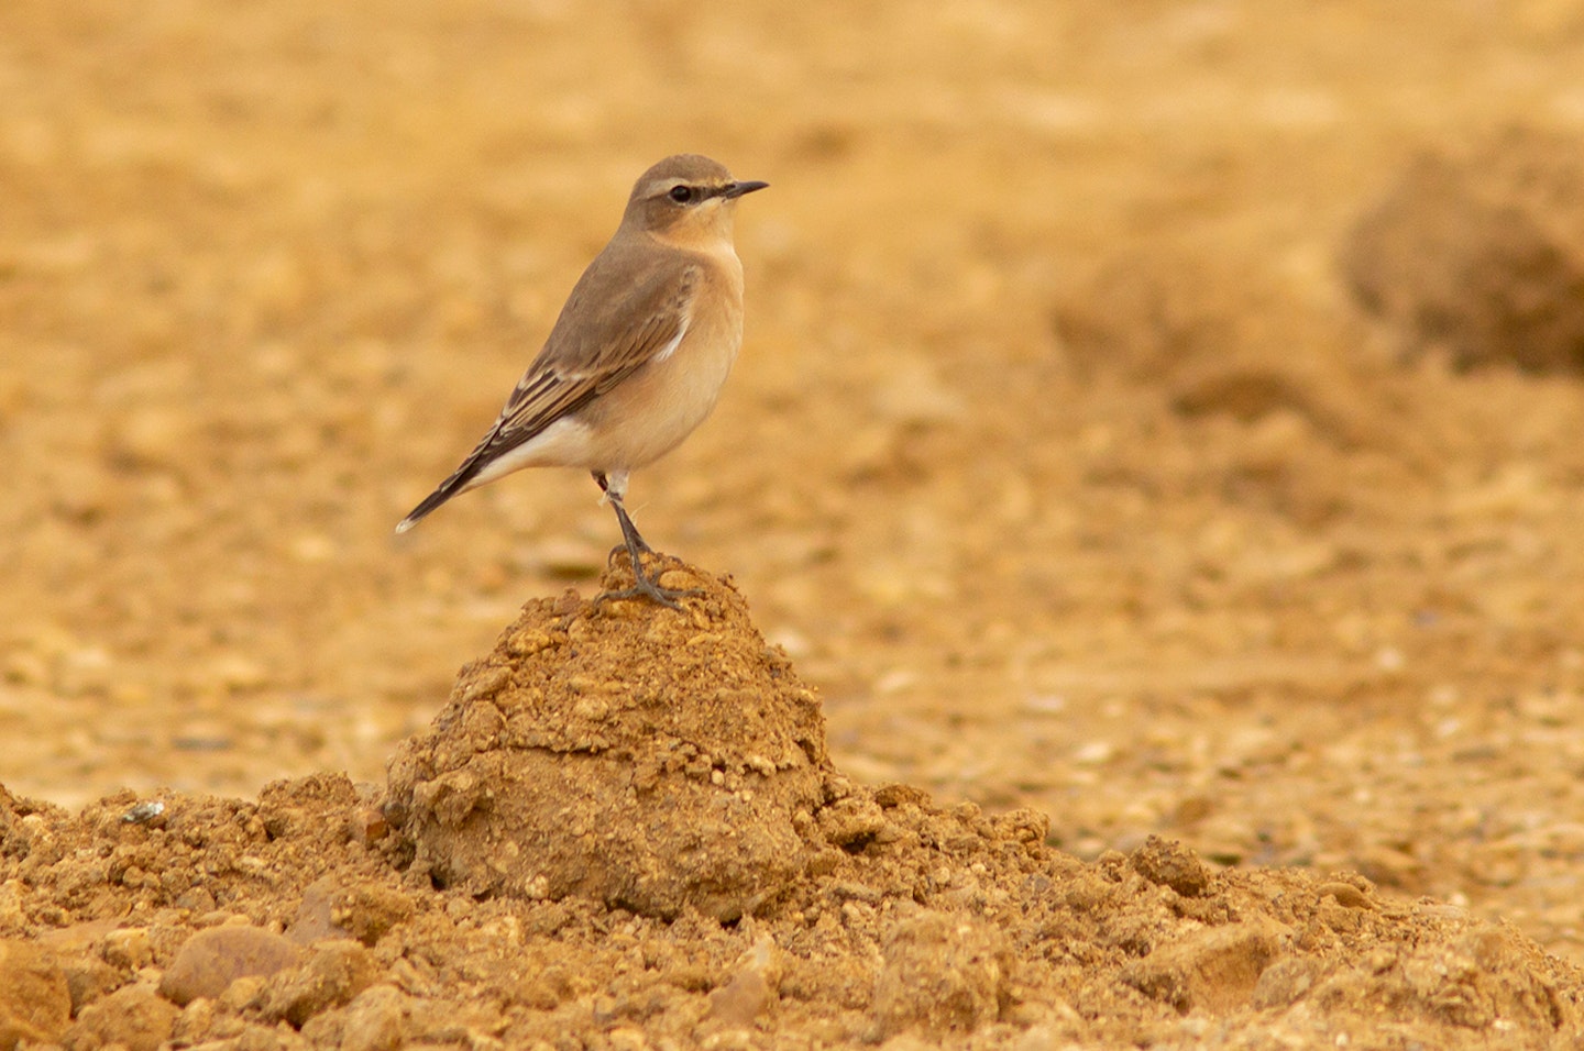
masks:
{"label": "large rounded clod of packed dirt the bird stands on", "polygon": [[[607,587],[619,587],[619,571]],[[686,613],[529,603],[390,768],[415,864],[474,894],[735,920],[806,867],[835,771],[819,701],[729,584]]]}

